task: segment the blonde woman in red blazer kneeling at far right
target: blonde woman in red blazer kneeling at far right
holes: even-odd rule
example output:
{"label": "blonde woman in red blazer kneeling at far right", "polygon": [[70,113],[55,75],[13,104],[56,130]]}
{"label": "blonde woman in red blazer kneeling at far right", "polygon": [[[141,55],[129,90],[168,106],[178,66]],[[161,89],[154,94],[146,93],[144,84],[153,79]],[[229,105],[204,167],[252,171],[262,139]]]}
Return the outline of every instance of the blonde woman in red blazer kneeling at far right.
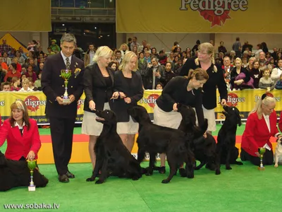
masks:
{"label": "blonde woman in red blazer kneeling at far right", "polygon": [[254,165],[259,165],[258,148],[265,147],[263,163],[272,165],[274,154],[269,141],[271,136],[281,137],[276,123],[277,116],[274,110],[276,103],[274,98],[267,94],[262,95],[257,105],[247,117],[247,124],[242,136],[241,160],[250,160]]}

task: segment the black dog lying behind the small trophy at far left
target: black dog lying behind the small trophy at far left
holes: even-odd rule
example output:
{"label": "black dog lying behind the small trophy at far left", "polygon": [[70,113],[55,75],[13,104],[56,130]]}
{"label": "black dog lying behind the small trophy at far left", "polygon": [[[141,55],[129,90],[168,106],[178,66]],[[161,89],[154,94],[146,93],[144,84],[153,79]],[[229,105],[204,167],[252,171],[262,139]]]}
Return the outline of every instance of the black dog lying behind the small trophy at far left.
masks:
{"label": "black dog lying behind the small trophy at far left", "polygon": [[[48,179],[38,169],[33,171],[33,182],[36,187],[46,187]],[[0,191],[6,192],[14,187],[30,185],[30,169],[25,160],[8,160],[0,151]]]}

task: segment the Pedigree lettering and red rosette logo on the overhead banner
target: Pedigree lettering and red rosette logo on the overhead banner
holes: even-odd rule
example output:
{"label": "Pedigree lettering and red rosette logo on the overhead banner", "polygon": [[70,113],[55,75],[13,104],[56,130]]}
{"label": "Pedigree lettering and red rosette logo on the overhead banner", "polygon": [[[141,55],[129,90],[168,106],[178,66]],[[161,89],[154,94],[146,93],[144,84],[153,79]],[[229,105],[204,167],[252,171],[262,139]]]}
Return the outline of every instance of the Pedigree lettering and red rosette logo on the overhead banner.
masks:
{"label": "Pedigree lettering and red rosette logo on the overhead banner", "polygon": [[192,11],[199,11],[204,20],[214,25],[224,25],[226,19],[231,19],[230,11],[246,11],[247,0],[180,0],[180,11],[187,11],[187,5]]}

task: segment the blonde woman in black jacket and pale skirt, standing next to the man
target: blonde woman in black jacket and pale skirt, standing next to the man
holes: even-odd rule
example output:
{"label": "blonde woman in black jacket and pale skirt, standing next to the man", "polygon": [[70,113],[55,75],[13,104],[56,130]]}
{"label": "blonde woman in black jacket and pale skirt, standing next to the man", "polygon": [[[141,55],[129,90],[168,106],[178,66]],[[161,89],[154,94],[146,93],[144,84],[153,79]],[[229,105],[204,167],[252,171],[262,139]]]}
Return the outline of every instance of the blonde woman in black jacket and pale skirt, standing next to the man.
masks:
{"label": "blonde woman in black jacket and pale skirt, standing next to the man", "polygon": [[[111,110],[114,73],[109,68],[113,51],[106,46],[99,47],[93,57],[94,64],[87,66],[83,75],[85,104],[82,134],[89,135],[89,154],[93,170],[96,162],[94,146],[102,132],[103,124],[96,122],[95,110]],[[90,181],[88,178],[87,181]]]}

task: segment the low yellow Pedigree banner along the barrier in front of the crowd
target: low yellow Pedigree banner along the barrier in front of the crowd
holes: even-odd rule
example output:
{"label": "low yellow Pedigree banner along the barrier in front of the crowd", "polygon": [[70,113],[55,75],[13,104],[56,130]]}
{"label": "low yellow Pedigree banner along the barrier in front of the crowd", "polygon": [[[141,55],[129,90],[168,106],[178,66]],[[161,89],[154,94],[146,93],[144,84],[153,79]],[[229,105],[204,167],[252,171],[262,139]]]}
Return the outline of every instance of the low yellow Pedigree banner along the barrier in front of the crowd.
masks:
{"label": "low yellow Pedigree banner along the barrier in front of the crowd", "polygon": [[[255,107],[257,100],[261,98],[265,90],[236,90],[228,93],[227,104],[229,106],[235,106],[240,110],[240,116],[242,119],[247,119],[247,114]],[[280,117],[282,111],[281,104],[281,90],[273,90],[271,92],[276,100],[276,112]],[[150,118],[154,119],[154,105],[157,98],[161,95],[161,90],[145,90],[143,98],[138,102],[138,105],[142,105],[146,108]],[[49,124],[49,119],[45,115],[46,108],[46,96],[41,91],[22,93],[22,92],[0,92],[0,113],[2,122],[8,119],[11,115],[10,106],[16,100],[23,100],[27,105],[28,114],[32,119],[37,121],[37,124]],[[217,100],[220,101],[219,93],[217,93]],[[82,94],[80,100],[78,100],[78,117],[76,123],[82,123],[83,107],[85,104],[85,95]],[[63,106],[62,106],[63,107]],[[218,105],[215,109],[215,116],[218,120],[225,119],[221,113],[223,108]]]}

